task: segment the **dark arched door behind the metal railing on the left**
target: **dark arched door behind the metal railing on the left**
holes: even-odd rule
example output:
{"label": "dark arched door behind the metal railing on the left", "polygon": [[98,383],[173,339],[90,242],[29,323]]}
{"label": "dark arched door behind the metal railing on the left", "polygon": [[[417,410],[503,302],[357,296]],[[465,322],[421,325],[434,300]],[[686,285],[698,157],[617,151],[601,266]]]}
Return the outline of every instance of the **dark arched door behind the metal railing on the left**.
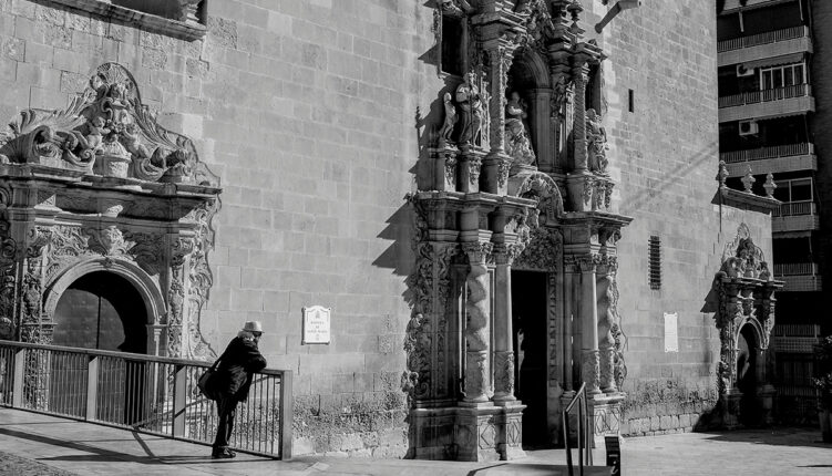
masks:
{"label": "dark arched door behind the metal railing on the left", "polygon": [[[55,345],[147,353],[147,312],[142,296],[126,279],[107,271],[82,276],[61,294],[54,311]],[[53,359],[50,404],[64,413],[80,414],[84,399],[68,395],[85,392],[85,363]],[[60,380],[59,380],[60,379]],[[97,414],[95,418],[133,424],[144,420],[146,363],[99,359]],[[68,397],[70,396],[70,397]]]}

